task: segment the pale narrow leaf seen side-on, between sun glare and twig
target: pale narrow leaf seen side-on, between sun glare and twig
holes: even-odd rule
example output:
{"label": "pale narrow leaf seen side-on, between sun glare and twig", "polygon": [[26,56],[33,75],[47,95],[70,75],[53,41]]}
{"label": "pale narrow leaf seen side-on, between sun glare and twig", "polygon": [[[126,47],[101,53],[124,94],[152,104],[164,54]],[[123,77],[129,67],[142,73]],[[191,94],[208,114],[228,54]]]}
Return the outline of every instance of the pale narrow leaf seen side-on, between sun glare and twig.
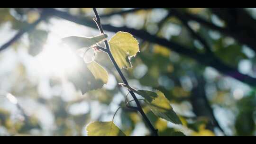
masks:
{"label": "pale narrow leaf seen side-on, between sun glare and twig", "polygon": [[93,37],[69,36],[62,38],[62,41],[75,49],[79,49],[82,47],[91,47],[92,45],[104,41],[107,37],[106,34]]}

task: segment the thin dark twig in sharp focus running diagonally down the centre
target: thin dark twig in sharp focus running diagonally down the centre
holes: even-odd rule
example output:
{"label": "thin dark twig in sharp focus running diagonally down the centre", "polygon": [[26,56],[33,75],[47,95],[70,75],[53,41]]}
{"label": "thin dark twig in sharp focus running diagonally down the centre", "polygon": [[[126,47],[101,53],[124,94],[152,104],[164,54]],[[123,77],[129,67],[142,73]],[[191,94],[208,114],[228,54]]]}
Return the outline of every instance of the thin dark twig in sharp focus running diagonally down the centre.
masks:
{"label": "thin dark twig in sharp focus running diagonally down the centre", "polygon": [[[104,34],[104,31],[103,31],[102,26],[101,26],[101,19],[100,19],[100,17],[99,17],[99,14],[98,14],[96,8],[93,8],[93,11],[94,11],[94,14],[95,14],[95,17],[96,17],[96,18],[93,18],[93,20],[94,20],[95,23],[97,24],[99,30],[101,31],[101,34]],[[129,85],[129,84],[128,84],[128,81],[127,81],[126,78],[124,77],[124,75],[123,75],[123,73],[121,72],[121,70],[120,70],[118,64],[116,63],[116,61],[115,61],[113,55],[112,55],[111,52],[110,52],[110,46],[109,46],[109,44],[108,44],[108,41],[105,40],[104,42],[105,42],[105,45],[106,45],[106,52],[107,52],[107,54],[109,55],[110,60],[111,60],[112,63],[114,64],[116,70],[118,71],[118,73],[119,73],[119,75],[120,75],[122,81],[123,81],[126,85]],[[134,101],[136,102],[137,108],[136,108],[136,107],[135,107],[135,108],[136,108],[137,111],[142,115],[142,117],[143,117],[143,119],[145,120],[146,124],[149,126],[152,135],[157,136],[157,135],[158,135],[158,134],[157,134],[157,129],[154,128],[154,126],[151,124],[151,122],[149,121],[149,119],[146,117],[146,114],[144,113],[144,111],[143,111],[143,109],[142,109],[142,107],[141,107],[141,105],[140,105],[140,103],[139,103],[137,97],[135,96],[134,92],[131,91],[131,90],[128,90],[128,91],[130,92],[130,94],[132,95]]]}

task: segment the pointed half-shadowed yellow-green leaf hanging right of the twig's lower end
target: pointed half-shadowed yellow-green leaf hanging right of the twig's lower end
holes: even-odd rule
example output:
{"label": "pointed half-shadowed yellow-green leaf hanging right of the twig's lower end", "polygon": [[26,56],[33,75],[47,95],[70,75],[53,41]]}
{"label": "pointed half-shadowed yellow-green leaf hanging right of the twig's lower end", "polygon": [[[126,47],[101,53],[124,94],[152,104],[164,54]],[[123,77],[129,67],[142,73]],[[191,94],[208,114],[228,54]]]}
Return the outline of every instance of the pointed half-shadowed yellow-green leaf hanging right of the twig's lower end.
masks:
{"label": "pointed half-shadowed yellow-green leaf hanging right of the twig's lower end", "polygon": [[161,118],[164,118],[174,124],[182,124],[180,118],[174,112],[172,106],[170,105],[170,101],[165,98],[165,95],[161,91],[157,91],[157,98],[152,100],[152,102],[146,101],[149,108],[152,112]]}

